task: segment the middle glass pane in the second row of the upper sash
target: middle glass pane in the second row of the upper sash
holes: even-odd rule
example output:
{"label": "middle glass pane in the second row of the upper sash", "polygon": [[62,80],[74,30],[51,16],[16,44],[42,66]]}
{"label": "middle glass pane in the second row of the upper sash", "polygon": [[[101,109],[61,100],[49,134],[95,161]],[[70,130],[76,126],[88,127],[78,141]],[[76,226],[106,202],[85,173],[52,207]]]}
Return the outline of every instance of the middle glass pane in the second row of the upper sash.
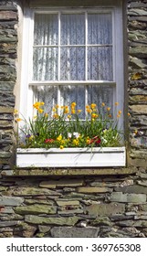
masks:
{"label": "middle glass pane in the second row of the upper sash", "polygon": [[61,48],[60,80],[85,79],[85,48]]}

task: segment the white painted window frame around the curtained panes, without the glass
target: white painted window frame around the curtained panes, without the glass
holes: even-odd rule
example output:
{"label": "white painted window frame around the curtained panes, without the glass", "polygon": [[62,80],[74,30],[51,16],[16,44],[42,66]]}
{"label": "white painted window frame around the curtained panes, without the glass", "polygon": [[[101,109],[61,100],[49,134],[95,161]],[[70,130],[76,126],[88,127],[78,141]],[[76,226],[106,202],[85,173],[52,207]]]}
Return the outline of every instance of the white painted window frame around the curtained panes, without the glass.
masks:
{"label": "white painted window frame around the curtained panes, without the glass", "polygon": [[[116,1],[114,1],[116,2]],[[121,3],[121,1],[120,1]],[[107,7],[107,8],[106,8]],[[93,8],[93,7],[92,7]],[[90,8],[90,11],[92,11]],[[115,6],[99,6],[93,8],[96,12],[96,9],[100,12],[106,12],[109,10],[112,12],[112,31],[113,31],[113,81],[103,81],[103,80],[79,80],[79,81],[59,81],[60,85],[66,85],[68,83],[79,85],[79,84],[100,84],[105,86],[105,84],[110,84],[111,86],[116,86],[115,97],[113,97],[114,102],[118,101],[119,105],[117,106],[117,111],[121,110],[121,118],[119,119],[118,126],[123,130],[123,102],[124,102],[124,74],[123,74],[123,33],[122,33],[122,7],[121,4]],[[89,10],[89,8],[87,8]],[[48,12],[57,12],[64,11],[73,12],[73,8],[46,8],[46,9],[30,9],[25,8],[24,10],[24,22],[23,22],[23,40],[22,40],[22,68],[21,68],[21,89],[20,89],[20,107],[19,110],[23,116],[31,117],[33,115],[32,104],[34,101],[32,87],[36,85],[56,85],[58,81],[33,81],[30,80],[32,77],[32,68],[33,67],[33,28],[34,28],[34,14],[37,13],[48,13]],[[75,8],[79,12],[86,10],[86,8]],[[117,68],[117,69],[115,69]]]}

